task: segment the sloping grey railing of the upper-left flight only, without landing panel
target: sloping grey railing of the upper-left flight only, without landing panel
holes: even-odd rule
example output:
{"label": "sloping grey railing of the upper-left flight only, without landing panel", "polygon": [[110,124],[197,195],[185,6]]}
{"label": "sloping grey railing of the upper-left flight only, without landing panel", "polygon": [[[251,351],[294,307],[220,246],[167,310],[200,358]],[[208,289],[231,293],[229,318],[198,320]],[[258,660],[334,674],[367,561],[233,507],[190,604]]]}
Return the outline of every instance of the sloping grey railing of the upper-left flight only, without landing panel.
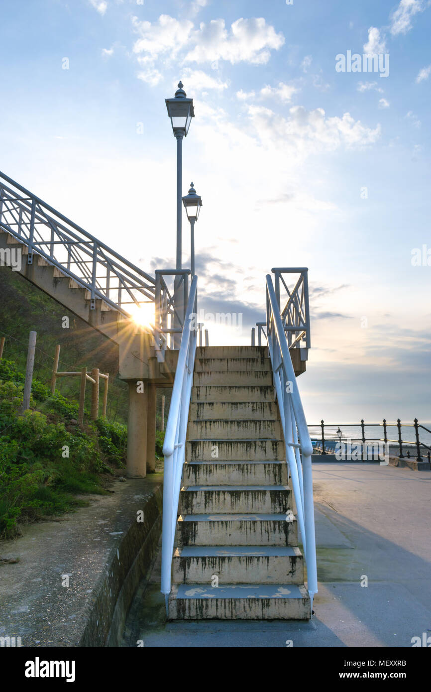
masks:
{"label": "sloping grey railing of the upper-left flight only, without landing panel", "polygon": [[89,291],[91,309],[100,298],[128,317],[155,300],[152,276],[1,172],[0,228],[26,246],[27,264],[43,257]]}

